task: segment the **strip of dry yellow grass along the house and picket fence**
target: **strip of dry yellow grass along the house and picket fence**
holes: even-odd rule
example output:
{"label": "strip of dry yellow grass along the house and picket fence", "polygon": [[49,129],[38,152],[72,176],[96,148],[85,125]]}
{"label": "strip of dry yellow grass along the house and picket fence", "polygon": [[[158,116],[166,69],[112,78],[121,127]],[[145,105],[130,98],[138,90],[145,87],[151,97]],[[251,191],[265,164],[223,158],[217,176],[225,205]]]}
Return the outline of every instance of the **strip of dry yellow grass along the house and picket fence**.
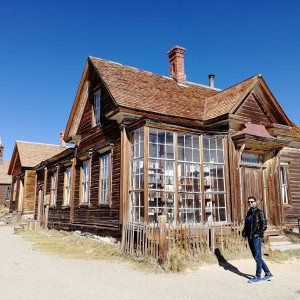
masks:
{"label": "strip of dry yellow grass along the house and picket fence", "polygon": [[[154,259],[123,255],[120,251],[119,243],[107,243],[75,233],[38,230],[22,232],[22,236],[33,243],[33,247],[36,250],[76,259],[120,261],[129,263],[133,268],[146,272],[181,273],[187,270],[195,270],[201,265],[224,263],[235,259],[252,257],[249,250],[239,252],[224,250],[220,252],[216,249],[215,253],[206,251],[193,254],[174,247],[169,250],[165,264],[160,266]],[[268,247],[264,246],[263,253],[264,258],[277,263],[292,258],[300,259],[300,249],[285,252],[275,251],[271,256]]]}

